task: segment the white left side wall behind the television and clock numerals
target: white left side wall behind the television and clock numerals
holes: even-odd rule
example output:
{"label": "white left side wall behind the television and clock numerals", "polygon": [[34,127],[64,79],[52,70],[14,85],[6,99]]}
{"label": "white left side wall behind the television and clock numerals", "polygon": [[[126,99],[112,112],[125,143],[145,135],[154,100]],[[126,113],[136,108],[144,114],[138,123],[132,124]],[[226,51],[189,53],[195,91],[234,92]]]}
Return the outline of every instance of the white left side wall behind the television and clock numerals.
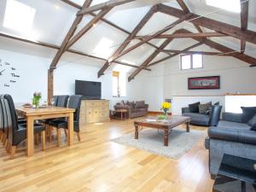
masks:
{"label": "white left side wall behind the television and clock numerals", "polygon": [[[33,92],[38,91],[42,93],[43,102],[46,101],[47,72],[55,55],[55,49],[5,38],[0,38],[0,40],[0,59],[3,64],[0,66],[0,72],[5,67],[4,62],[9,62],[11,67],[16,68],[15,73],[20,75],[17,83],[4,87],[3,84],[12,79],[10,75],[5,75],[10,71],[4,71],[4,75],[0,76],[0,94],[8,93],[14,97],[15,102],[24,103],[31,102]],[[66,53],[61,57],[54,72],[54,94],[74,94],[75,79],[79,79],[102,82],[102,99],[110,100],[110,108],[113,108],[116,102],[128,100],[127,97],[113,98],[111,71],[107,71],[100,79],[97,78],[97,72],[102,64],[102,61]]]}

